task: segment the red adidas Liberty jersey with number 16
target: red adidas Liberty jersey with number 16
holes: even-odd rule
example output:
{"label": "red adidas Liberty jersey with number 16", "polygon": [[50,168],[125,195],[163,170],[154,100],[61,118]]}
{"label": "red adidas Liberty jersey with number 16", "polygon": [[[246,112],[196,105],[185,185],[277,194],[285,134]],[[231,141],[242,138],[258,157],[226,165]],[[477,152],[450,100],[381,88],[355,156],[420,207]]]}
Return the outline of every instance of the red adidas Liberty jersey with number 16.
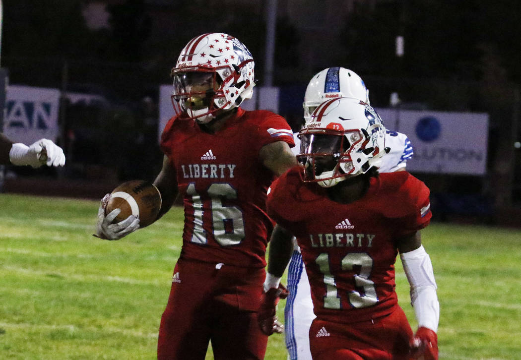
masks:
{"label": "red adidas Liberty jersey with number 16", "polygon": [[272,221],[266,192],[274,179],[259,159],[266,144],[294,145],[284,118],[241,108],[212,134],[193,120],[171,118],[161,148],[177,172],[183,197],[181,257],[210,263],[264,267]]}

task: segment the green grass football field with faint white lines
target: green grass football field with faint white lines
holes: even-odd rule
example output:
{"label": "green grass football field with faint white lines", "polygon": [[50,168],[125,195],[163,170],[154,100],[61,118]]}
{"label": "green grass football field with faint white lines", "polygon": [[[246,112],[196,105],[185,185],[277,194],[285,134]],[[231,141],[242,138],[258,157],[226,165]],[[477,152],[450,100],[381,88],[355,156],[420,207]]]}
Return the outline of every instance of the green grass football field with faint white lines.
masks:
{"label": "green grass football field with faint white lines", "polygon": [[[0,358],[156,358],[182,210],[110,242],[91,235],[97,207],[0,194]],[[423,242],[438,282],[440,359],[521,359],[521,231],[431,224]],[[415,328],[400,261],[396,278]],[[286,359],[282,336],[266,359]]]}

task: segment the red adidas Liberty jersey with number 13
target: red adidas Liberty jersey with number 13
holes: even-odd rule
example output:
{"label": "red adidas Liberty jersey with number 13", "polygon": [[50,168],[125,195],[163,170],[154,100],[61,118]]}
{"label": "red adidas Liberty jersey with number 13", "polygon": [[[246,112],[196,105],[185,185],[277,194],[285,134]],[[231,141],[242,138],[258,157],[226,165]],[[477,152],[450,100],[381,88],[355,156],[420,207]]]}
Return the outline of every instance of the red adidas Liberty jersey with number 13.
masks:
{"label": "red adidas Liberty jersey with number 13", "polygon": [[395,240],[429,224],[429,189],[408,172],[381,173],[361,199],[340,204],[300,171],[271,185],[267,206],[297,238],[315,315],[345,323],[389,314],[398,303]]}

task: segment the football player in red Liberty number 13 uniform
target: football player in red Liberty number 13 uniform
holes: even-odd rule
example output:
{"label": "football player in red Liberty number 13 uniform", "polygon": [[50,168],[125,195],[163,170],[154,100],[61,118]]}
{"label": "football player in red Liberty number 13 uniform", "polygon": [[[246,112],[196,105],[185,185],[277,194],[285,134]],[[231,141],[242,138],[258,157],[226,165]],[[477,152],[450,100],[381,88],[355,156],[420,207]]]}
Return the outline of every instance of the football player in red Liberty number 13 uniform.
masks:
{"label": "football player in red Liberty number 13 uniform", "polygon": [[[268,272],[282,276],[295,235],[314,312],[312,357],[438,358],[439,303],[420,229],[430,221],[429,189],[408,172],[378,173],[389,149],[379,116],[354,98],[322,103],[300,132],[300,167],[279,177],[268,194]],[[400,253],[418,320],[413,335],[395,292]],[[278,287],[278,279],[272,288]],[[259,324],[269,333],[274,293],[262,297]]]}

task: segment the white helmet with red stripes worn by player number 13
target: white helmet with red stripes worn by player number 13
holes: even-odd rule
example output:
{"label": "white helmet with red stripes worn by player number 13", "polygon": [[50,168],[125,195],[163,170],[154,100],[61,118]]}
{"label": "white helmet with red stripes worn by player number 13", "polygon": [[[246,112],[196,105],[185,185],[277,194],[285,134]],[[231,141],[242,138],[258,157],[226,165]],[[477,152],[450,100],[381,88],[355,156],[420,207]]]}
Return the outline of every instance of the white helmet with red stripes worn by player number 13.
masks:
{"label": "white helmet with red stripes worn by player number 13", "polygon": [[380,116],[362,101],[341,97],[320,104],[299,132],[303,180],[329,188],[379,168],[385,134]]}

